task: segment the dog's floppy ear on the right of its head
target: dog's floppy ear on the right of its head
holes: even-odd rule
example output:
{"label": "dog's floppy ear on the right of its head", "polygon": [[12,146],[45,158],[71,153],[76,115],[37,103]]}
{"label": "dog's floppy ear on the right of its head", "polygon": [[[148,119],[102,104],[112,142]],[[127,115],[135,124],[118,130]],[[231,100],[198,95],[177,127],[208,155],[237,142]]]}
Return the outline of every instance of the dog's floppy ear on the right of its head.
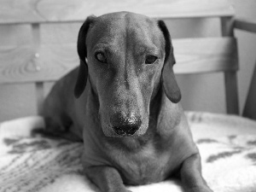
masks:
{"label": "dog's floppy ear on the right of its head", "polygon": [[175,75],[172,69],[176,61],[173,55],[171,37],[166,27],[166,24],[163,20],[158,21],[158,26],[160,27],[160,30],[163,32],[166,41],[166,57],[161,74],[161,83],[168,99],[171,102],[177,103],[181,100],[181,92],[179,90],[179,87],[177,86],[177,81],[175,79]]}

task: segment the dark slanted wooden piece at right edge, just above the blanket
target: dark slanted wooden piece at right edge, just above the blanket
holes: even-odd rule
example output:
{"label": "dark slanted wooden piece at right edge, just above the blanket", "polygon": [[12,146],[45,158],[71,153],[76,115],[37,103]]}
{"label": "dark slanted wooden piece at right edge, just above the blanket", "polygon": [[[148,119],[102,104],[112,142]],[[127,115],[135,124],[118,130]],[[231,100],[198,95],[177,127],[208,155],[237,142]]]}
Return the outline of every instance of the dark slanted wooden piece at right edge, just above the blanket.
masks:
{"label": "dark slanted wooden piece at right edge, just above the blanket", "polygon": [[256,63],[242,116],[256,120]]}

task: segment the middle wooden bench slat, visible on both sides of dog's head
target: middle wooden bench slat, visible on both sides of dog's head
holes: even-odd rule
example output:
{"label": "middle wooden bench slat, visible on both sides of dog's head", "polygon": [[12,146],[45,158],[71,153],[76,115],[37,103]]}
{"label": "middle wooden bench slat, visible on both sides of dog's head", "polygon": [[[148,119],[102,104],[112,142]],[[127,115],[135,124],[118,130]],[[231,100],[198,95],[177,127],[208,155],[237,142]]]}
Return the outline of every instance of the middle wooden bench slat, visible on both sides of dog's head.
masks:
{"label": "middle wooden bench slat, visible on both sides of dog's head", "polygon": [[[236,71],[235,38],[174,39],[175,73]],[[39,56],[39,57],[38,57]],[[76,44],[0,47],[0,84],[54,81],[79,65]]]}

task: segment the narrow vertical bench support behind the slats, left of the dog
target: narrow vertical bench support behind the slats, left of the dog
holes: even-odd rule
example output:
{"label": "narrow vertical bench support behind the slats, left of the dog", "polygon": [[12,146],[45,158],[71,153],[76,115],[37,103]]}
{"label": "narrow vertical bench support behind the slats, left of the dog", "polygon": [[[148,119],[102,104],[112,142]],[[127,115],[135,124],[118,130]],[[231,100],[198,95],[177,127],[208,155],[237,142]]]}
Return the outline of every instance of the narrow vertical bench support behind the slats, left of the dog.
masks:
{"label": "narrow vertical bench support behind the slats, left of the dog", "polygon": [[[33,49],[35,50],[34,59],[32,60],[35,70],[40,71],[41,67],[39,64],[40,59],[40,25],[38,23],[32,24],[32,40],[33,40]],[[36,82],[36,100],[37,100],[37,109],[38,114],[41,112],[44,102],[44,83]]]}

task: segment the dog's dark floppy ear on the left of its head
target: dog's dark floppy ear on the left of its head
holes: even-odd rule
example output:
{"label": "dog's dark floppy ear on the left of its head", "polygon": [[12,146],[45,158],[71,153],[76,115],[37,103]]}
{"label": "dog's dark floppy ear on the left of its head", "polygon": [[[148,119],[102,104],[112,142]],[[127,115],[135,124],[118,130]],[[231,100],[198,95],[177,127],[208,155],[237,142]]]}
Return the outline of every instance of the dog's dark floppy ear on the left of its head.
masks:
{"label": "dog's dark floppy ear on the left of its head", "polygon": [[93,23],[95,18],[96,18],[95,16],[88,17],[84,21],[84,24],[80,27],[80,30],[79,30],[78,53],[79,53],[79,59],[80,59],[80,67],[79,67],[79,75],[78,75],[77,83],[74,88],[74,95],[76,98],[81,96],[81,94],[83,93],[86,85],[86,81],[87,81],[88,67],[85,59],[87,57],[87,49],[86,49],[85,41],[86,41],[86,35],[87,35],[87,32],[89,31],[90,25]]}

